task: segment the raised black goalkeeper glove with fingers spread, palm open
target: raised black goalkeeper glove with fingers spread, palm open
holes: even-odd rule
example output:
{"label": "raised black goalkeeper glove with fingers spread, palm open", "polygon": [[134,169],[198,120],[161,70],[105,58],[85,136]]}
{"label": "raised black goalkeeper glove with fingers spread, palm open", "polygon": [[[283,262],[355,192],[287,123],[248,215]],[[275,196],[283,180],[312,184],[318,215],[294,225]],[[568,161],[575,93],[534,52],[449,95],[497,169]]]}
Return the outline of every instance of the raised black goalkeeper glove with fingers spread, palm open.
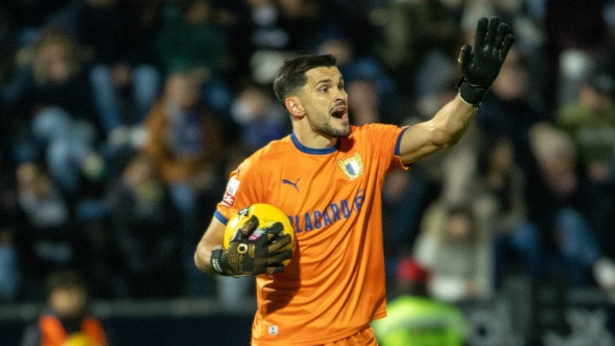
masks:
{"label": "raised black goalkeeper glove with fingers spread, palm open", "polygon": [[463,77],[458,84],[459,96],[475,108],[483,101],[515,42],[509,29],[506,23],[500,23],[498,17],[491,20],[480,18],[474,36],[474,50],[469,44],[461,47],[458,63]]}

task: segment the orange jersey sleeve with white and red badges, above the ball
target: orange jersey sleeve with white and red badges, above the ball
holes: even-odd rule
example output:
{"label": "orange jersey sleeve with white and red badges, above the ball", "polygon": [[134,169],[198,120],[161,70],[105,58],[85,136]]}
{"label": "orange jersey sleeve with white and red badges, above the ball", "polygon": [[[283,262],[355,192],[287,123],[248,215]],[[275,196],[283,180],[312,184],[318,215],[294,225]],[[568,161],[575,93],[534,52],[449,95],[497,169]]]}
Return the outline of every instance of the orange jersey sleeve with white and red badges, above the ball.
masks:
{"label": "orange jersey sleeve with white and red badges, above the ball", "polygon": [[222,200],[216,206],[214,216],[220,222],[226,223],[243,207],[261,201],[263,183],[260,179],[258,165],[253,158],[246,159],[232,171],[224,189]]}

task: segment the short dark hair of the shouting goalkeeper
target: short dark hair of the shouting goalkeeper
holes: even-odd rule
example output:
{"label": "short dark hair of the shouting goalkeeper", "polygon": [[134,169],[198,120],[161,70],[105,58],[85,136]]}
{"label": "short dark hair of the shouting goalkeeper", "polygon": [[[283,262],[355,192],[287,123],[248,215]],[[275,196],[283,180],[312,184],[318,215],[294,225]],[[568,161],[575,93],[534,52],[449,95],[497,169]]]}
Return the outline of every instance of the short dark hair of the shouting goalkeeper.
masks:
{"label": "short dark hair of the shouting goalkeeper", "polygon": [[301,55],[300,57],[287,60],[280,68],[276,79],[273,82],[273,91],[277,99],[284,103],[284,99],[303,87],[306,82],[306,72],[315,67],[335,66],[337,61],[330,54],[325,55]]}

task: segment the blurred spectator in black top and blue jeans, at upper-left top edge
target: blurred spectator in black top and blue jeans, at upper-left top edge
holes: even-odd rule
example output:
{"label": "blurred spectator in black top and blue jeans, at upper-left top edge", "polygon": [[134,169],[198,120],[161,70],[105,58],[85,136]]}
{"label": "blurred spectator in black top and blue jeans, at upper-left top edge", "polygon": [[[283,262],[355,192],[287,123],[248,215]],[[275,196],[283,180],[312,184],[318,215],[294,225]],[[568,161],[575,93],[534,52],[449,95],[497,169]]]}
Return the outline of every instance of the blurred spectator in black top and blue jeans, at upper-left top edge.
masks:
{"label": "blurred spectator in black top and blue jeans, at upper-left top edge", "polygon": [[141,124],[161,87],[160,73],[146,50],[155,33],[140,30],[130,1],[80,0],[76,7],[77,38],[92,53],[89,81],[104,137],[110,144],[124,144],[128,130]]}

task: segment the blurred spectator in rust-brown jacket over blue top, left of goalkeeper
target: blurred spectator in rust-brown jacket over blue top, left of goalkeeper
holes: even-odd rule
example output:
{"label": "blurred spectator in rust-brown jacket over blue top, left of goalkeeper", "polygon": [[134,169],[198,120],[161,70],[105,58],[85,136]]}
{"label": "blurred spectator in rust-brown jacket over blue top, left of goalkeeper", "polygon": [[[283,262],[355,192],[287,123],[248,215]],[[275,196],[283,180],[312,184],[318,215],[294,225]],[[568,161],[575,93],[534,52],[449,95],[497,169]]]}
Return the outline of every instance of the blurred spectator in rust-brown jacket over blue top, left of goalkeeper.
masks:
{"label": "blurred spectator in rust-brown jacket over blue top, left of goalkeeper", "polygon": [[203,292],[205,285],[196,281],[206,280],[192,261],[194,244],[204,227],[199,211],[213,208],[224,188],[220,119],[200,100],[198,81],[189,73],[169,76],[164,95],[146,118],[148,139],[143,147],[180,216],[181,258],[191,275],[191,294]]}

